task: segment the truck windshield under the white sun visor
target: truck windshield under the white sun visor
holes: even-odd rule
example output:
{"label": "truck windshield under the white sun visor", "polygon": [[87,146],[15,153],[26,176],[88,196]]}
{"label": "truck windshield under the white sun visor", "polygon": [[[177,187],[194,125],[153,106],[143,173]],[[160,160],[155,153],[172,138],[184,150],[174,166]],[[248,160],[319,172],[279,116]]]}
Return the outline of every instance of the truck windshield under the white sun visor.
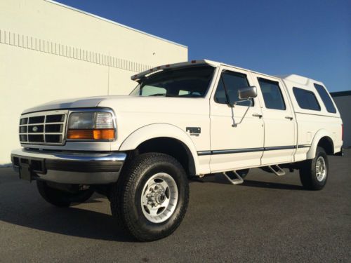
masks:
{"label": "truck windshield under the white sun visor", "polygon": [[214,67],[204,65],[166,69],[143,79],[131,92],[132,96],[204,97]]}

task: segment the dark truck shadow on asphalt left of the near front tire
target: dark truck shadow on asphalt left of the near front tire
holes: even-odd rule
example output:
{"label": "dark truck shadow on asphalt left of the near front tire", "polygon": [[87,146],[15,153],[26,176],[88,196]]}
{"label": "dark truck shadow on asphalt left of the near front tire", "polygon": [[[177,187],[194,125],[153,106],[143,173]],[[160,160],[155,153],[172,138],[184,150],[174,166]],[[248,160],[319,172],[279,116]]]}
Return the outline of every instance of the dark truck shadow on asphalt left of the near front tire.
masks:
{"label": "dark truck shadow on asphalt left of the near front tire", "polygon": [[[15,197],[15,196],[14,196]],[[91,198],[87,203],[96,202]],[[100,201],[99,201],[100,202]],[[11,205],[2,209],[0,220],[52,233],[105,241],[136,242],[117,226],[112,215],[77,207],[55,208],[39,202],[35,208]]]}

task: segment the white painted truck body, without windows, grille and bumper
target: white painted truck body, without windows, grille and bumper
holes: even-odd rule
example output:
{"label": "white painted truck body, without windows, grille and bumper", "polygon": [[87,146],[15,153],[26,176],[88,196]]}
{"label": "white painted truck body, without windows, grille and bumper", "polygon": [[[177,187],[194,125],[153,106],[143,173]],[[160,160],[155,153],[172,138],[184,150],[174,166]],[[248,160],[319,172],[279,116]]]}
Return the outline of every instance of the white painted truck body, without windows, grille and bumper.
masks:
{"label": "white painted truck body, without windows, grille and bumper", "polygon": [[[333,154],[341,150],[340,114],[338,111],[335,114],[326,111],[313,86],[313,83],[324,86],[323,83],[296,75],[284,78],[267,76],[208,60],[167,65],[154,70],[192,64],[208,64],[216,68],[205,97],[105,96],[51,102],[27,109],[24,114],[79,107],[110,108],[117,121],[117,139],[113,142],[66,142],[63,146],[26,144],[25,147],[69,151],[132,151],[146,140],[169,137],[186,145],[194,159],[196,175],[312,159],[322,137],[329,137],[333,142]],[[232,127],[232,109],[234,121],[239,123],[247,107],[235,105],[230,108],[227,104],[218,104],[213,98],[223,69],[246,74],[249,85],[258,87],[253,107],[249,108],[237,127]],[[147,72],[134,75],[132,79],[138,79],[143,74]],[[279,83],[286,104],[284,111],[265,107],[258,77]],[[293,86],[313,91],[321,110],[300,109],[293,95]],[[258,118],[257,114],[263,117]],[[186,127],[201,127],[201,134],[192,136]],[[308,147],[299,147],[301,145]],[[289,149],[277,149],[286,146]],[[225,150],[232,152],[204,154]]]}

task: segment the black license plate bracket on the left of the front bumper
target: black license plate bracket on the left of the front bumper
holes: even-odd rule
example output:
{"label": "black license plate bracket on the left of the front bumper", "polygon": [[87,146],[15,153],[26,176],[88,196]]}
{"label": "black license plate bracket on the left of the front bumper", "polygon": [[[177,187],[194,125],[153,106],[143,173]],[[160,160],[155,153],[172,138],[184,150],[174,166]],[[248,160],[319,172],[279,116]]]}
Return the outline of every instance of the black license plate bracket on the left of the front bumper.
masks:
{"label": "black license plate bracket on the left of the front bumper", "polygon": [[20,179],[32,181],[37,173],[46,173],[44,159],[13,156],[13,166],[18,167]]}

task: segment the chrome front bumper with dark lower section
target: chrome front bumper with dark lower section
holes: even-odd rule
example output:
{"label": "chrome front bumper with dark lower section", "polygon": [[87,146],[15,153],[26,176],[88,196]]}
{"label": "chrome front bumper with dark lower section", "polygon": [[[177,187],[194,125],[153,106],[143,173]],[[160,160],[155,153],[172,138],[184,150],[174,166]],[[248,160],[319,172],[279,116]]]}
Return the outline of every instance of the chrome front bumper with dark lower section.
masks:
{"label": "chrome front bumper with dark lower section", "polygon": [[117,182],[126,160],[124,152],[79,153],[17,149],[11,153],[13,169],[24,180],[61,184]]}

